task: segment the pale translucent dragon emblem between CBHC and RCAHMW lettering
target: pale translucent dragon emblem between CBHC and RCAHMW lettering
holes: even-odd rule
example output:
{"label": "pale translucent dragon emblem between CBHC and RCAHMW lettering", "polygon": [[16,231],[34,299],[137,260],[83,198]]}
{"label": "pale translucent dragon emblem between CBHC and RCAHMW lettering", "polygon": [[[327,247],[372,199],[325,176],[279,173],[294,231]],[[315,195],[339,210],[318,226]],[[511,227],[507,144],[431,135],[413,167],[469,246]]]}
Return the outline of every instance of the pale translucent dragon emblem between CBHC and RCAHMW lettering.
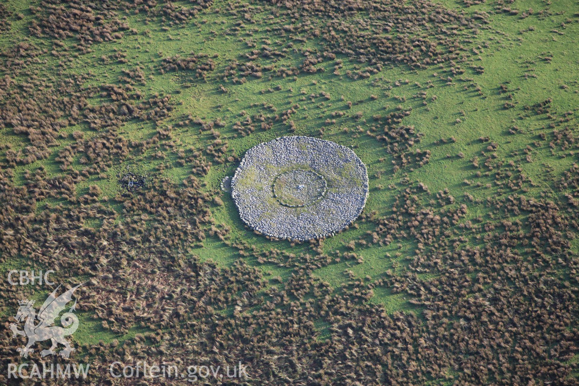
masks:
{"label": "pale translucent dragon emblem between CBHC and RCAHMW lettering", "polygon": [[[58,314],[64,310],[67,303],[72,300],[72,295],[75,290],[82,284],[79,284],[56,297],[56,292],[58,291],[58,288],[60,288],[59,285],[42,304],[42,307],[40,307],[40,310],[38,311],[38,315],[36,315],[36,311],[32,307],[34,305],[34,300],[20,300],[18,302],[20,308],[16,314],[16,320],[18,322],[25,320],[24,330],[19,330],[16,323],[12,323],[10,329],[14,334],[13,336],[23,335],[28,337],[28,343],[25,347],[19,347],[16,349],[16,351],[20,352],[20,356],[27,358],[28,353],[34,351],[31,348],[32,345],[36,342],[50,339],[50,341],[52,341],[52,347],[48,350],[42,350],[41,355],[54,355],[54,349],[57,347],[58,343],[60,343],[64,345],[64,349],[60,351],[60,356],[68,358],[70,353],[74,351],[74,348],[71,347],[68,340],[65,339],[65,336],[73,334],[78,328],[78,317],[73,314],[76,306],[76,297],[74,304],[69,308],[68,312],[60,317],[60,322],[64,327],[53,326],[53,324],[55,323],[54,319],[56,319]],[[35,321],[38,321],[38,324],[35,324]]]}

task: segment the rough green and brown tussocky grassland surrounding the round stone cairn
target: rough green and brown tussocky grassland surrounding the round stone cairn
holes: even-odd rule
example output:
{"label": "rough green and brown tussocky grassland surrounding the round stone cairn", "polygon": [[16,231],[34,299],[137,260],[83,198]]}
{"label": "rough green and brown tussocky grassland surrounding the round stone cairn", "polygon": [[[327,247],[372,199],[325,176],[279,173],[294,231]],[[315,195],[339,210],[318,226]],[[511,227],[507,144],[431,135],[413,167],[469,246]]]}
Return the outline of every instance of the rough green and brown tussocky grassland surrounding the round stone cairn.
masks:
{"label": "rough green and brown tussocky grassland surrounding the round stone cairn", "polygon": [[[247,384],[579,384],[579,5],[346,3],[0,2],[0,273],[89,282],[86,384],[116,356],[240,360]],[[394,60],[364,31],[449,56]],[[219,184],[282,135],[367,165],[350,229],[243,225]],[[2,286],[6,326],[52,292]]]}

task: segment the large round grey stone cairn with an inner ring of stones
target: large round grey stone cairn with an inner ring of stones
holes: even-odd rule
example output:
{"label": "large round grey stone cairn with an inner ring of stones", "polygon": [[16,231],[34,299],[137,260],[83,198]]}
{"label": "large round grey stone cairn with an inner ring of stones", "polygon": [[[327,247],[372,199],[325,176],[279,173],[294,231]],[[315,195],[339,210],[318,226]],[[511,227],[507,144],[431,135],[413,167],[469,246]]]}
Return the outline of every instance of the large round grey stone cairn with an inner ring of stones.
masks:
{"label": "large round grey stone cairn with an inner ring of stones", "polygon": [[229,184],[247,226],[292,241],[334,236],[356,220],[368,197],[360,158],[346,146],[312,137],[254,146]]}

